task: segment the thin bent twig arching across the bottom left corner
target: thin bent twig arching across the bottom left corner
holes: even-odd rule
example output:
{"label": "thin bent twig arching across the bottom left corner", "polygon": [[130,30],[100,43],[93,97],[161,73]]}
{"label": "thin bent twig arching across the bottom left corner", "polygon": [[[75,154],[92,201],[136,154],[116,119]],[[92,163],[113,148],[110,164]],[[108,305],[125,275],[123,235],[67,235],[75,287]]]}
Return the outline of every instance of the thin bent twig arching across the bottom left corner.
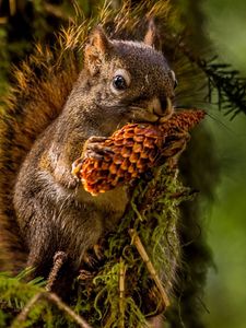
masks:
{"label": "thin bent twig arching across the bottom left corner", "polygon": [[42,298],[45,298],[51,303],[55,303],[58,308],[67,313],[81,328],[92,328],[81,316],[74,313],[67,304],[65,304],[61,298],[50,292],[40,292],[36,295],[34,295],[30,302],[24,306],[22,312],[17,315],[17,317],[14,319],[10,328],[17,328],[20,327],[23,323],[26,321],[27,316],[32,309],[32,307],[39,302]]}

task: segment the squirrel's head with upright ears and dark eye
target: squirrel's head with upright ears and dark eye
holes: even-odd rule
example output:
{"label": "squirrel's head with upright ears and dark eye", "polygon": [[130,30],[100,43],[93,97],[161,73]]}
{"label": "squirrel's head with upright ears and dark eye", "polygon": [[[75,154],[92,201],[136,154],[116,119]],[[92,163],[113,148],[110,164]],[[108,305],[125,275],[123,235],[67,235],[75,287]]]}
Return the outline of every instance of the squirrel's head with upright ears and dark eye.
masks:
{"label": "squirrel's head with upright ears and dark eye", "polygon": [[156,121],[173,112],[175,74],[155,50],[154,35],[153,24],[143,42],[109,39],[102,27],[91,33],[83,77],[87,99],[93,96],[105,119]]}

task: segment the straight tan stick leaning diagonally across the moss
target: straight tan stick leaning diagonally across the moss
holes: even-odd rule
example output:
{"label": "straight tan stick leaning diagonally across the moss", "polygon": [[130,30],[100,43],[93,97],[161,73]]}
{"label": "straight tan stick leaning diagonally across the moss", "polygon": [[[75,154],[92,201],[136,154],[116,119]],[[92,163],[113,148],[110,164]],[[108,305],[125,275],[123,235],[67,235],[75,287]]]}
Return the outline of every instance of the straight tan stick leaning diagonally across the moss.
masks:
{"label": "straight tan stick leaning diagonally across the moss", "polygon": [[154,280],[157,289],[159,289],[159,292],[161,294],[161,297],[162,297],[162,301],[163,301],[163,304],[165,307],[169,306],[169,298],[162,285],[162,282],[157,276],[157,272],[155,271],[154,269],[154,266],[152,265],[143,245],[142,245],[142,242],[140,239],[140,237],[138,236],[137,232],[134,229],[129,229],[129,235],[131,236],[131,243],[136,246],[136,248],[138,249],[143,262],[145,263],[147,266],[147,269],[148,271],[150,272],[152,279]]}

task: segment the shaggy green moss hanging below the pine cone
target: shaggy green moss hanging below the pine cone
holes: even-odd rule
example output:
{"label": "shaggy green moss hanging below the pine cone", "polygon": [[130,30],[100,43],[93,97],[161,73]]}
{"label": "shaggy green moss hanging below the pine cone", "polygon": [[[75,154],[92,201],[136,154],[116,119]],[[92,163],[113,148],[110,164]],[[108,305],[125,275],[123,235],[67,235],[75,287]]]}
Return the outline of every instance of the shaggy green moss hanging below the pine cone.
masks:
{"label": "shaggy green moss hanging below the pine cone", "polygon": [[[106,263],[94,279],[81,282],[80,314],[93,327],[142,327],[145,317],[157,312],[159,291],[129,235],[139,235],[167,294],[172,293],[179,262],[176,230],[179,203],[190,198],[190,190],[178,179],[178,171],[163,166],[150,181],[134,187],[129,208],[118,230],[108,236]],[[120,268],[126,270],[124,297],[120,297]],[[151,296],[152,292],[154,296]]]}

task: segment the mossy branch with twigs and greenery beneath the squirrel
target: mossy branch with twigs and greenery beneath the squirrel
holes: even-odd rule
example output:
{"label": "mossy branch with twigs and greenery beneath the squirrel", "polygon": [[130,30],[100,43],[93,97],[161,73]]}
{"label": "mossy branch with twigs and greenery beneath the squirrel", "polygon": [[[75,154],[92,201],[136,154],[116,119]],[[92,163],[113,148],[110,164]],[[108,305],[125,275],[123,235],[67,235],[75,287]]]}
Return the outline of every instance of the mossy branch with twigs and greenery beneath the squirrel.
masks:
{"label": "mossy branch with twigs and greenery beneath the squirrel", "polygon": [[46,289],[40,279],[26,283],[26,273],[17,278],[1,274],[1,309],[12,319],[19,313],[12,327],[59,323],[62,313],[68,323],[80,327],[145,327],[147,317],[165,309],[179,262],[178,204],[190,198],[177,173],[164,165],[153,171],[151,179],[143,178],[134,186],[117,232],[105,242],[105,263],[94,276],[79,278],[78,297],[71,307],[48,291],[63,255],[55,260]]}

